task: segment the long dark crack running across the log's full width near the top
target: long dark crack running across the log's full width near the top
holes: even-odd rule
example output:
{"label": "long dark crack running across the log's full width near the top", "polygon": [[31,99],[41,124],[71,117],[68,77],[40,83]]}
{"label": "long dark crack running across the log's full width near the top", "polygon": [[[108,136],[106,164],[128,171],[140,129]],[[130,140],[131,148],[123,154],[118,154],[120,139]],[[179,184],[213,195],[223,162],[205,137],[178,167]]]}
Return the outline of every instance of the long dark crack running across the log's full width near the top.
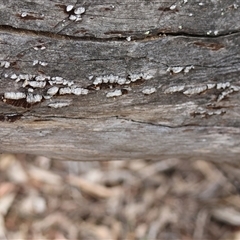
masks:
{"label": "long dark crack running across the log's full width near the top", "polygon": [[[74,40],[74,41],[92,41],[92,42],[107,42],[107,41],[126,41],[126,36],[123,37],[110,37],[110,38],[99,38],[99,37],[94,37],[94,36],[72,36],[72,35],[65,35],[65,34],[59,34],[55,32],[47,32],[47,31],[38,31],[38,30],[29,30],[29,29],[24,29],[24,28],[15,28],[10,25],[0,25],[0,32],[8,31],[10,33],[15,33],[15,34],[27,34],[27,35],[32,35],[32,36],[42,36],[42,37],[49,37],[53,39],[58,39],[58,40]],[[189,37],[189,38],[212,38],[216,39],[219,37],[226,37],[226,36],[232,36],[235,34],[239,34],[240,30],[234,30],[234,31],[229,31],[227,33],[222,33],[217,36],[212,36],[212,35],[207,35],[207,34],[192,34],[192,33],[187,33],[187,32],[161,32],[160,29],[152,29],[149,30],[150,34],[149,35],[139,35],[139,36],[131,36],[132,41],[146,41],[146,40],[156,40],[158,38],[162,38],[161,35],[166,35],[166,36],[172,36],[172,37]],[[152,33],[151,33],[152,32]],[[124,33],[124,32],[123,32]]]}

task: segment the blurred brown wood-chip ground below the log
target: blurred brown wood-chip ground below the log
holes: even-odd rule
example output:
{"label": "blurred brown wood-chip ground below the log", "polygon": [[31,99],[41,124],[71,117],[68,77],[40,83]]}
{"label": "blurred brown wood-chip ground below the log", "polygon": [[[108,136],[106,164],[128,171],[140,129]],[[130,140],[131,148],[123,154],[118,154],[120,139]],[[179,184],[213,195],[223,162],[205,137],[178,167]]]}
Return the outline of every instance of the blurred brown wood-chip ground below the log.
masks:
{"label": "blurred brown wood-chip ground below the log", "polygon": [[239,240],[239,170],[0,155],[0,239]]}

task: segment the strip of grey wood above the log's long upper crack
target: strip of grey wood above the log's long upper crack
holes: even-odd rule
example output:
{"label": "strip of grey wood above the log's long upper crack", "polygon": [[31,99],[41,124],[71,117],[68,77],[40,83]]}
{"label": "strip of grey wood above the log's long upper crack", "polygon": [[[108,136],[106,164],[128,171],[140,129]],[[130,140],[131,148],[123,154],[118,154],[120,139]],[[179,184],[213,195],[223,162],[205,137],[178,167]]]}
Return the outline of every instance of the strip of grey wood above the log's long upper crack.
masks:
{"label": "strip of grey wood above the log's long upper crack", "polygon": [[[77,23],[68,19],[66,6],[83,6]],[[0,24],[17,29],[93,38],[145,37],[158,33],[207,35],[236,32],[240,28],[239,1],[69,1],[3,0]],[[27,16],[22,17],[22,13]],[[181,26],[181,28],[179,28]],[[147,34],[147,35],[149,35]],[[217,35],[218,35],[217,34]]]}

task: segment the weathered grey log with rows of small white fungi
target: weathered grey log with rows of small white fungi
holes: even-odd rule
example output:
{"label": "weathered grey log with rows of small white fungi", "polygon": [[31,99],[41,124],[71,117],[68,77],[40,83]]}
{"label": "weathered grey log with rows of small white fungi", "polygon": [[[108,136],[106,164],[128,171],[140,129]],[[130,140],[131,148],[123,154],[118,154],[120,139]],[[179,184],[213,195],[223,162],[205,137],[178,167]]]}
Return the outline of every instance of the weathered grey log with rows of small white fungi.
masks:
{"label": "weathered grey log with rows of small white fungi", "polygon": [[0,151],[240,153],[237,1],[0,3]]}

